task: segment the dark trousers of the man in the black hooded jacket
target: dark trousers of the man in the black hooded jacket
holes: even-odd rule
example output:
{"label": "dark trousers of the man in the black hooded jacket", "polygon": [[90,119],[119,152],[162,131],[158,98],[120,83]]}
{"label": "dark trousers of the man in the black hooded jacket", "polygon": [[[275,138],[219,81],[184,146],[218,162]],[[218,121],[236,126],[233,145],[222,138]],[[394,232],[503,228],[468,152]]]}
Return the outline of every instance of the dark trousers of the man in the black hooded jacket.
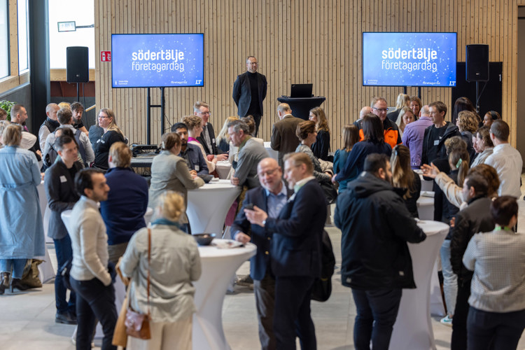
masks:
{"label": "dark trousers of the man in the black hooded jacket", "polygon": [[395,318],[398,316],[401,289],[352,289],[357,316],[353,325],[353,345],[356,350],[387,350]]}

